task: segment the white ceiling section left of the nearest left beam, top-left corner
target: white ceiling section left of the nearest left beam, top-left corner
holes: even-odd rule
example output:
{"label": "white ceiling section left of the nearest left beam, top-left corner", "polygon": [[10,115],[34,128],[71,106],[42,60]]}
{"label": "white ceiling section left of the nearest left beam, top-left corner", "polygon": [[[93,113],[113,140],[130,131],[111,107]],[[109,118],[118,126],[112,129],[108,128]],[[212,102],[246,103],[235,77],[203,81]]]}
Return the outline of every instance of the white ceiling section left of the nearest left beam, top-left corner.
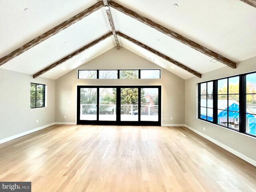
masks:
{"label": "white ceiling section left of the nearest left beam, top-left corner", "polygon": [[[96,2],[98,1],[0,0],[0,57],[72,18]],[[29,11],[25,12],[25,8]]]}

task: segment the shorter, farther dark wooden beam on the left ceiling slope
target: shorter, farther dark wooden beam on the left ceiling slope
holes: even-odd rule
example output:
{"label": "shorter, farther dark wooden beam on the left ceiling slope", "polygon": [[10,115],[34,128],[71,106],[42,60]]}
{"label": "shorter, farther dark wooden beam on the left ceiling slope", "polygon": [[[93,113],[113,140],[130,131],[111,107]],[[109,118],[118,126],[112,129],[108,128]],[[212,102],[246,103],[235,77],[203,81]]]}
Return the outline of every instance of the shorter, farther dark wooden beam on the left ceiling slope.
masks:
{"label": "shorter, farther dark wooden beam on the left ceiling slope", "polygon": [[58,60],[58,61],[55,62],[54,64],[51,64],[50,66],[44,68],[44,69],[41,70],[40,72],[34,74],[34,75],[33,75],[33,78],[36,78],[36,77],[38,77],[38,76],[44,74],[45,72],[47,72],[47,71],[51,70],[52,68],[54,68],[54,67],[56,67],[56,66],[62,64],[63,62],[65,62],[65,61],[69,60],[70,58],[72,58],[72,57],[74,57],[74,56],[80,54],[80,53],[83,52],[84,50],[86,50],[86,49],[88,49],[88,48],[90,48],[90,47],[96,45],[97,43],[103,41],[104,39],[106,39],[106,38],[108,38],[108,37],[110,37],[110,36],[112,36],[112,32],[108,32],[108,33],[105,34],[104,36],[102,36],[102,37],[100,37],[100,38],[94,40],[93,42],[90,42],[90,43],[87,44],[86,46],[83,46],[82,48],[76,50],[75,52],[71,53],[70,55],[68,55],[68,56],[66,56],[66,57],[64,57],[64,58],[62,58],[62,59],[60,59],[60,60]]}

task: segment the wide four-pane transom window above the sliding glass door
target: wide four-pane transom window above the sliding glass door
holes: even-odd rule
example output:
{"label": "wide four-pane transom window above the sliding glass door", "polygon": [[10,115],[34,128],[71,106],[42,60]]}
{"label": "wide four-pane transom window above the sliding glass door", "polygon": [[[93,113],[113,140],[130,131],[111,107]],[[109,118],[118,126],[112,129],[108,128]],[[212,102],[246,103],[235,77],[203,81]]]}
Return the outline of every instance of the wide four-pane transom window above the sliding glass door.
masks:
{"label": "wide four-pane transom window above the sliding glass door", "polygon": [[160,69],[78,70],[78,79],[160,79]]}

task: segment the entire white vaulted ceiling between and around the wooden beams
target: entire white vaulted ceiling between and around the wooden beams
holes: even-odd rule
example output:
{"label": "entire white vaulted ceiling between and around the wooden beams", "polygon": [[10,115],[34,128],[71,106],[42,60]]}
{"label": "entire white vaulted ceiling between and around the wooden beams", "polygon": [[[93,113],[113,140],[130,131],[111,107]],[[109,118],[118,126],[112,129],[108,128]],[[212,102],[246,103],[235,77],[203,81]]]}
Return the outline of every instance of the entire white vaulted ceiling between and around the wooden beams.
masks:
{"label": "entire white vaulted ceiling between and around the wooden beams", "polygon": [[[256,56],[256,3],[254,0],[244,1],[246,3],[242,0],[115,0],[109,4],[120,46],[147,60],[153,58],[154,61],[150,60],[151,62],[186,79],[195,75],[188,72],[188,68],[204,74],[226,64],[219,61],[213,63],[210,61],[213,57],[209,54],[132,18],[132,15],[128,16],[114,6],[115,2],[153,23],[156,22],[166,30],[178,33],[185,40],[187,38],[200,44],[203,50],[207,48],[235,63]],[[100,1],[0,1],[0,58],[10,55],[98,2]],[[178,4],[178,8],[174,4]],[[0,68],[34,75],[108,34],[112,28],[103,3],[101,5],[64,30],[12,57]],[[134,41],[131,42],[126,36]],[[59,78],[114,46],[116,42],[111,32],[104,40],[77,52],[72,58],[40,76]],[[82,62],[84,58],[87,60]],[[179,64],[184,67],[180,68]]]}

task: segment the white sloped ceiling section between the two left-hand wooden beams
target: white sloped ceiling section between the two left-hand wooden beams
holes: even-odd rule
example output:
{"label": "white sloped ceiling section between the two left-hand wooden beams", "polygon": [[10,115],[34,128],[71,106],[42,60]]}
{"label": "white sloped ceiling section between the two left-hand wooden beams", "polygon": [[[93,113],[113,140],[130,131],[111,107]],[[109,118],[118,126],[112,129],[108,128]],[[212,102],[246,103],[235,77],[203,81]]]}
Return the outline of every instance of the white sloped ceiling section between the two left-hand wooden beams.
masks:
{"label": "white sloped ceiling section between the two left-hand wooden beams", "polygon": [[[108,33],[111,28],[104,14],[106,14],[106,11],[104,8],[101,8],[58,34],[48,38],[44,42],[20,54],[20,56],[2,65],[1,68],[27,74],[37,73],[93,40],[100,38],[103,34]],[[67,42],[67,44],[65,44],[65,42]],[[92,53],[89,54],[92,55]]]}

